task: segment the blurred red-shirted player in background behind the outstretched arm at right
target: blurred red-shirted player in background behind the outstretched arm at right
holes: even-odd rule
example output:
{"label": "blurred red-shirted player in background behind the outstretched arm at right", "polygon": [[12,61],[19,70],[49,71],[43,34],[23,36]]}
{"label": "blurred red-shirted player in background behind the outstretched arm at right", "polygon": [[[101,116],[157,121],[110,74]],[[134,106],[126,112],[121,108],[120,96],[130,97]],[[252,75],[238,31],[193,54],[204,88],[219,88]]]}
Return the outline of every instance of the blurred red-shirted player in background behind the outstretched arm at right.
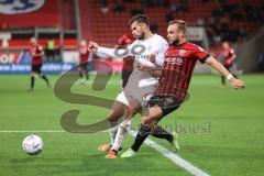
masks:
{"label": "blurred red-shirted player in background behind the outstretched arm at right", "polygon": [[[233,65],[234,65],[234,58],[237,57],[234,50],[230,46],[230,44],[228,42],[223,42],[222,43],[222,52],[221,55],[223,57],[223,66],[231,72]],[[232,73],[232,75],[237,78],[237,75],[234,74],[234,72]],[[226,78],[223,76],[221,76],[221,88],[226,87]]]}

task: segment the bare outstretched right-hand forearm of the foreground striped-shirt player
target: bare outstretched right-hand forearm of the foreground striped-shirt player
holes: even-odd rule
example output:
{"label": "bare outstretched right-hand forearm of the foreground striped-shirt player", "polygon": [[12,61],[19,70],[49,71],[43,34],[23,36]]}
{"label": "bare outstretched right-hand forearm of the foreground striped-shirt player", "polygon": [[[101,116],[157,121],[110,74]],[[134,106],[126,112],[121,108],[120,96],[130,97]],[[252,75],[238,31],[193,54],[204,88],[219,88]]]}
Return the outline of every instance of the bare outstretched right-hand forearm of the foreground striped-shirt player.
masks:
{"label": "bare outstretched right-hand forearm of the foreground striped-shirt player", "polygon": [[210,56],[209,58],[207,58],[206,63],[211,66],[213,69],[216,69],[220,75],[224,76],[226,78],[228,78],[230,85],[233,88],[245,88],[245,84],[243,80],[241,79],[237,79],[234,78],[227,68],[224,68],[224,66],[222,64],[220,64],[216,58],[213,58],[212,56]]}

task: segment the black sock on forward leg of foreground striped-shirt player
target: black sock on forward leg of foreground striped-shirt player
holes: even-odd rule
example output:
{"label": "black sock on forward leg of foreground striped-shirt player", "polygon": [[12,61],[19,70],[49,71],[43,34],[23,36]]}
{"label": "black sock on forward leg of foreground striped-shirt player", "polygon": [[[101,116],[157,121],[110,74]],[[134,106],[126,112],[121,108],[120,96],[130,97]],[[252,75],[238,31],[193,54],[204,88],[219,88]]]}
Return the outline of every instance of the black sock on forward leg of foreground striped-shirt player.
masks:
{"label": "black sock on forward leg of foreground striped-shirt player", "polygon": [[131,148],[134,152],[138,152],[142,143],[145,141],[145,139],[151,134],[151,128],[147,125],[141,125],[141,129],[139,130],[134,143],[132,144]]}

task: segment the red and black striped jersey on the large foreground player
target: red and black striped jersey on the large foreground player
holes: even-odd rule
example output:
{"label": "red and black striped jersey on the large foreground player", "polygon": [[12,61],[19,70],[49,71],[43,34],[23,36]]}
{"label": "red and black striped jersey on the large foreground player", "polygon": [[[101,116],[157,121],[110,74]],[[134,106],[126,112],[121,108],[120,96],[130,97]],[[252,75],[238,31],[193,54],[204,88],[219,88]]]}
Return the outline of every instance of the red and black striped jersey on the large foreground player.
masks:
{"label": "red and black striped jersey on the large foreground player", "polygon": [[190,42],[170,46],[164,58],[162,76],[158,80],[156,95],[173,95],[182,102],[189,87],[197,61],[205,63],[210,55]]}

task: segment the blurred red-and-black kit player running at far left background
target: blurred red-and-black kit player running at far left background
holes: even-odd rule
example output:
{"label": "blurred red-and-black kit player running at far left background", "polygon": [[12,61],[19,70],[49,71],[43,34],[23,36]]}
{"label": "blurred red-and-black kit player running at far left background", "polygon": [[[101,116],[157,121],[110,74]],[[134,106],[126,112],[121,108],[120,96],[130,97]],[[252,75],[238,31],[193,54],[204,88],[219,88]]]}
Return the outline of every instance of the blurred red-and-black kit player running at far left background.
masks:
{"label": "blurred red-and-black kit player running at far left background", "polygon": [[44,55],[43,46],[37,44],[35,37],[31,37],[30,43],[31,43],[30,55],[32,57],[32,64],[31,64],[31,88],[29,91],[32,91],[34,90],[35,85],[35,74],[40,75],[40,77],[43,80],[45,80],[47,87],[50,87],[50,81],[42,72],[42,57]]}

